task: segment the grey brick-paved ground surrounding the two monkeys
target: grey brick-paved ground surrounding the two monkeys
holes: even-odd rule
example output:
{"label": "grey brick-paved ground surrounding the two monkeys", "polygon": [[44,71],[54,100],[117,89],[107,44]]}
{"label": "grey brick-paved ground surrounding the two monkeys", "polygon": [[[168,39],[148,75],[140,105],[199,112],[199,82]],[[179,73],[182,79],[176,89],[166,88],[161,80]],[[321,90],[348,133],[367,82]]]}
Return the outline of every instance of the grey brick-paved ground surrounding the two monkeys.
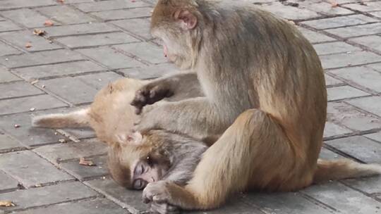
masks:
{"label": "grey brick-paved ground surrounding the two monkeys", "polygon": [[[322,156],[381,163],[381,1],[250,1],[293,20],[320,54],[329,94]],[[151,11],[152,1],[142,0],[0,0],[0,201],[16,203],[0,213],[145,210],[140,192],[107,177],[106,150],[93,132],[31,128],[30,114],[87,105],[123,76],[173,70],[148,33]],[[33,35],[35,28],[47,35]],[[80,157],[97,166],[78,165]],[[372,214],[380,207],[381,177],[373,177],[240,194],[207,213]]]}

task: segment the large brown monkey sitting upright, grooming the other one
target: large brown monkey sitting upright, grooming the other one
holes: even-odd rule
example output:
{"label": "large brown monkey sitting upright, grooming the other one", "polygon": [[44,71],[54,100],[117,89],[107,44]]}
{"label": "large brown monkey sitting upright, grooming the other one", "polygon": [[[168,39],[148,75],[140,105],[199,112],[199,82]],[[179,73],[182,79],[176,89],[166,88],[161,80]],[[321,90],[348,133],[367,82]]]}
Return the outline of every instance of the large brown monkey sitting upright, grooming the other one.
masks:
{"label": "large brown monkey sitting upright, grooming the other one", "polygon": [[221,137],[185,186],[152,182],[145,202],[210,209],[237,191],[295,191],[381,172],[379,165],[317,160],[327,110],[323,70],[313,46],[285,20],[237,2],[159,0],[151,32],[170,61],[197,73],[205,97],[155,103],[179,76],[145,84],[132,102],[142,113],[136,129]]}

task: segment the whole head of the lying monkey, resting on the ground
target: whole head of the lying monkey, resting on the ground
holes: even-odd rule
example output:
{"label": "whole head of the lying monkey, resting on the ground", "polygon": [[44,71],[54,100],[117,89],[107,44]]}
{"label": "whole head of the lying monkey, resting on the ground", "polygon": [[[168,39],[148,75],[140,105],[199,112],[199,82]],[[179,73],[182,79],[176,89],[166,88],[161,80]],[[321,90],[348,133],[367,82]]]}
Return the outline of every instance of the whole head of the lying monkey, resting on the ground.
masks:
{"label": "whole head of the lying monkey, resting on the ground", "polygon": [[150,182],[161,180],[171,167],[165,151],[169,144],[164,131],[135,132],[126,142],[109,146],[111,177],[128,189],[144,189]]}

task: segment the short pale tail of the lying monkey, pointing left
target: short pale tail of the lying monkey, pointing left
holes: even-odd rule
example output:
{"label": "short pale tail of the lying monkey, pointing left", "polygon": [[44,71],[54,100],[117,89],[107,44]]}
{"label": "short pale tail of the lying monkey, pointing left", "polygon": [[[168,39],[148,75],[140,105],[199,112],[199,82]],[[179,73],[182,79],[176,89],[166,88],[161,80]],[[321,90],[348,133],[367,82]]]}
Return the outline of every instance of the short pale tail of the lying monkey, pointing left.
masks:
{"label": "short pale tail of the lying monkey, pointing left", "polygon": [[32,118],[33,127],[89,127],[90,126],[90,107],[83,108],[70,113],[54,113],[40,115]]}

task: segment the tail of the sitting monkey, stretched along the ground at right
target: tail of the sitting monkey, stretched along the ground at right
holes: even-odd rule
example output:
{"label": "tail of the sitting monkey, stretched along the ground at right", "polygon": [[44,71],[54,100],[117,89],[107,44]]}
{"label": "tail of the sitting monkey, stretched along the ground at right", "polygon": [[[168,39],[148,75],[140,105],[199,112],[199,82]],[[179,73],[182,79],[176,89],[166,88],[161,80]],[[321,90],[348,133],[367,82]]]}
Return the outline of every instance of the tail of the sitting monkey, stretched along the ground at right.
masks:
{"label": "tail of the sitting monkey, stretched along the ground at right", "polygon": [[317,160],[317,169],[313,177],[314,183],[346,178],[380,175],[381,165],[357,163],[349,159]]}

